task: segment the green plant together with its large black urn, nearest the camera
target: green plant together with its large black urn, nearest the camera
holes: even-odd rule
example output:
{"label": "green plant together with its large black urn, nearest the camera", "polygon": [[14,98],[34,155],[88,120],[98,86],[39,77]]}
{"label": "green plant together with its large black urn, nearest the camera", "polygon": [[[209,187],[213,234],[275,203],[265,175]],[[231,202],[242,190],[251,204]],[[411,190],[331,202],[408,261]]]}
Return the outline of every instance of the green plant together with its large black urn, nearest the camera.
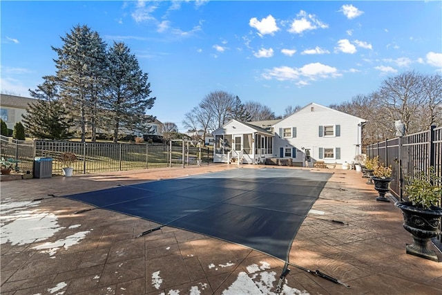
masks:
{"label": "green plant together with its large black urn, nearest the camera", "polygon": [[438,261],[434,251],[428,249],[428,242],[441,234],[442,178],[430,167],[414,178],[406,178],[404,193],[408,201],[394,205],[402,210],[403,227],[414,240],[412,245],[406,245],[406,253]]}

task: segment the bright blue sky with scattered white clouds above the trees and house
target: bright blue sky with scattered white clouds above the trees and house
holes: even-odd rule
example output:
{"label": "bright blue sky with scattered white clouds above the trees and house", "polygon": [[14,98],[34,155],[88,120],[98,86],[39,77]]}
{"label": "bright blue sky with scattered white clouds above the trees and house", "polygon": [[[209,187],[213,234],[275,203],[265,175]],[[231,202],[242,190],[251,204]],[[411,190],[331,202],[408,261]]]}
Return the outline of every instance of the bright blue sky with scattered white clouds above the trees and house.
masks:
{"label": "bright blue sky with scattered white clouds above the trees and house", "polygon": [[148,114],[175,122],[211,91],[287,106],[369,94],[442,70],[442,1],[1,1],[1,91],[29,97],[77,24],[124,41],[149,74]]}

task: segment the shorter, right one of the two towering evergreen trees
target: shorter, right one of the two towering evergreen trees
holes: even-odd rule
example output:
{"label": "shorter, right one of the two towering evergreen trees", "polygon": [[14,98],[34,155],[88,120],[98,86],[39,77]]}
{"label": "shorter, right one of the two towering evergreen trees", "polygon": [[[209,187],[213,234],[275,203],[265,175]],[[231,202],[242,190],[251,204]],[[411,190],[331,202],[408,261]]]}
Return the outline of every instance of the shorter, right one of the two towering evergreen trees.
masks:
{"label": "shorter, right one of the two towering evergreen trees", "polygon": [[106,110],[108,126],[113,129],[113,141],[117,142],[121,130],[148,133],[148,123],[154,117],[145,113],[152,108],[155,97],[149,97],[148,74],[142,72],[126,44],[114,42],[108,50],[106,74],[106,99],[101,105]]}

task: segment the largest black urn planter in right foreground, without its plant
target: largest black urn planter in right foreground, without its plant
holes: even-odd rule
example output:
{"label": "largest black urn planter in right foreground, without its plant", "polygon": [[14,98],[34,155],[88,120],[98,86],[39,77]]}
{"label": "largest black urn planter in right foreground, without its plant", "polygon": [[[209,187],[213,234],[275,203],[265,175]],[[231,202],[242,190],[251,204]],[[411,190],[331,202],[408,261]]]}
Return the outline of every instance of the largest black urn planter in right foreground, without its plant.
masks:
{"label": "largest black urn planter in right foreground, without its plant", "polygon": [[412,202],[396,202],[402,210],[403,228],[412,234],[414,242],[405,246],[407,254],[438,261],[436,253],[428,248],[430,240],[441,234],[442,208],[432,206],[430,209],[416,207]]}

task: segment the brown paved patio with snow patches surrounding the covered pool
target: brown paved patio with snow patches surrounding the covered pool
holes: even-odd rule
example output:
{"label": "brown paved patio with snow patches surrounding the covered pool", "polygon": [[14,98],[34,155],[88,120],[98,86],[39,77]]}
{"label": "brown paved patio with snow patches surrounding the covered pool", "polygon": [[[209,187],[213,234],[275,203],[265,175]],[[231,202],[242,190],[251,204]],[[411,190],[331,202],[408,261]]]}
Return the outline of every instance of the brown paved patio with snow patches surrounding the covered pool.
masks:
{"label": "brown paved patio with snow patches surrounding the covered pool", "polygon": [[[1,182],[1,294],[276,294],[284,267],[276,258],[171,227],[136,238],[155,224],[102,209],[74,214],[90,206],[48,196],[262,167],[211,164]],[[334,175],[300,227],[289,262],[351,288],[292,266],[281,294],[442,294],[442,263],[405,254],[412,238],[393,202],[376,202],[359,172],[310,170]],[[31,202],[37,198],[44,200]]]}

